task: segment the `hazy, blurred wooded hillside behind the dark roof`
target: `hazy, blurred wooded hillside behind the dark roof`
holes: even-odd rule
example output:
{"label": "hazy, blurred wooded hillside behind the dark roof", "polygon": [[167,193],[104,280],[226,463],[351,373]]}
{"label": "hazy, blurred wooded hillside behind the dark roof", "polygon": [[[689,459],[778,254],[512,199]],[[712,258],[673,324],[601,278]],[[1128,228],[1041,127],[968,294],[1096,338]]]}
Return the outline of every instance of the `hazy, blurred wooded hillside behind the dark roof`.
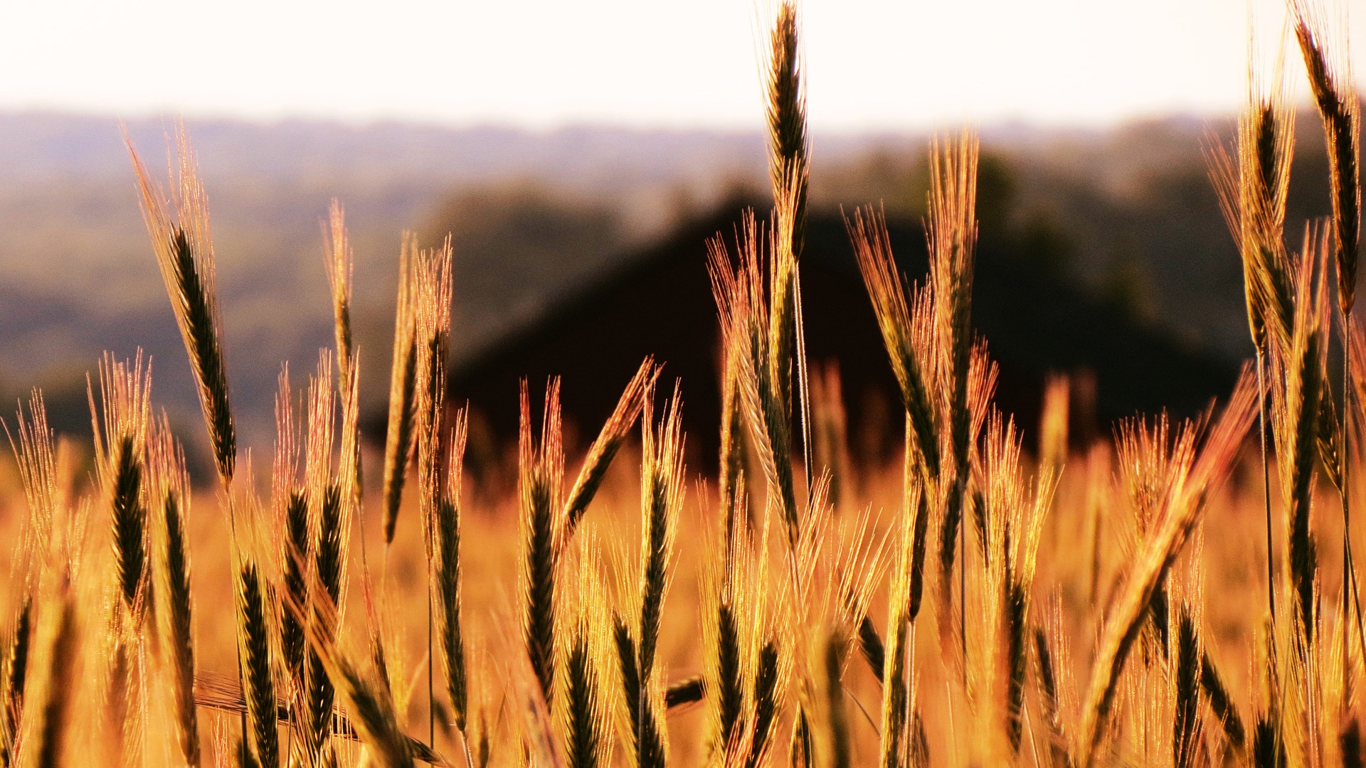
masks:
{"label": "hazy, blurred wooded hillside behind the dark roof", "polygon": [[[1247,354],[1240,272],[1202,154],[1209,131],[1227,134],[1229,124],[986,127],[984,238],[1004,236],[1024,262],[1093,299],[1235,361]],[[128,123],[153,168],[169,127]],[[403,230],[432,245],[456,235],[460,364],[731,191],[765,190],[758,131],[298,120],[189,127],[213,213],[234,399],[245,440],[258,451],[270,437],[281,361],[303,374],[331,343],[320,238],[331,198],[346,204],[357,250],[355,321],[373,403],[387,383]],[[1300,138],[1292,232],[1295,219],[1328,210],[1315,118],[1300,120]],[[813,210],[882,201],[892,215],[921,216],[926,137],[813,142]],[[101,350],[130,355],[138,346],[156,358],[157,400],[197,418],[117,120],[0,115],[0,395],[30,384],[83,388],[82,372]]]}

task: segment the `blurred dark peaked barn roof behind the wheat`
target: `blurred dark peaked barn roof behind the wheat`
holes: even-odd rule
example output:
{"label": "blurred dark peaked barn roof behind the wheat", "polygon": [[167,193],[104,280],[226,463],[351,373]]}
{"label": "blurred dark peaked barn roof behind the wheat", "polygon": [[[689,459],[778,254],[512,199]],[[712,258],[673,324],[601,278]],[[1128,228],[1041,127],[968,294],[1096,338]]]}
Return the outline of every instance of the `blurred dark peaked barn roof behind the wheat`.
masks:
{"label": "blurred dark peaked barn roof behind the wheat", "polygon": [[[667,387],[682,379],[688,445],[710,466],[719,443],[720,373],[706,241],[723,234],[734,253],[742,209],[729,204],[680,227],[538,323],[456,366],[448,402],[471,402],[496,439],[515,440],[519,381],[530,383],[538,410],[545,383],[560,376],[566,420],[578,424],[581,440],[590,440],[641,361],[654,355],[665,366]],[[922,279],[922,227],[889,221],[889,234],[903,272]],[[1037,421],[1050,372],[1090,372],[1090,426],[1162,407],[1195,414],[1231,389],[1232,364],[1184,350],[1003,250],[989,241],[978,247],[973,321],[1000,364],[997,403],[1026,429]],[[900,435],[896,384],[837,216],[810,216],[800,269],[807,358],[839,361],[851,445],[882,452]]]}

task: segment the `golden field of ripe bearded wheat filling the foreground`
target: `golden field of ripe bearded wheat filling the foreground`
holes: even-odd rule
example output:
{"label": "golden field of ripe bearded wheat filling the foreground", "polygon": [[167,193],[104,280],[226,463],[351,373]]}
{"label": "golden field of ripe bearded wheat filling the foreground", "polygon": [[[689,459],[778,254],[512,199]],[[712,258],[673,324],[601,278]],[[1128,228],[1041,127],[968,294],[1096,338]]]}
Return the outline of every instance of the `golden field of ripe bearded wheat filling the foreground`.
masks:
{"label": "golden field of ripe bearded wheat filling the foreground", "polygon": [[4,420],[0,765],[1366,765],[1361,111],[1328,15],[1290,18],[1332,216],[1285,232],[1290,78],[1253,61],[1210,176],[1255,358],[1201,418],[1091,445],[1065,377],[1037,445],[993,404],[963,131],[929,149],[926,275],[900,273],[877,208],[846,215],[904,411],[900,461],[851,461],[805,354],[791,1],[765,52],[773,209],[708,243],[724,374],[687,385],[723,392],[716,476],[684,463],[687,403],[645,359],[593,383],[622,395],[583,451],[559,381],[523,383],[515,489],[475,489],[444,377],[454,254],[413,236],[384,450],[362,450],[359,369],[384,354],[352,340],[337,204],[336,343],[281,374],[253,461],[189,135],[169,187],[130,142],[216,477],[191,485],[141,355],[100,361],[92,445],[40,391]]}

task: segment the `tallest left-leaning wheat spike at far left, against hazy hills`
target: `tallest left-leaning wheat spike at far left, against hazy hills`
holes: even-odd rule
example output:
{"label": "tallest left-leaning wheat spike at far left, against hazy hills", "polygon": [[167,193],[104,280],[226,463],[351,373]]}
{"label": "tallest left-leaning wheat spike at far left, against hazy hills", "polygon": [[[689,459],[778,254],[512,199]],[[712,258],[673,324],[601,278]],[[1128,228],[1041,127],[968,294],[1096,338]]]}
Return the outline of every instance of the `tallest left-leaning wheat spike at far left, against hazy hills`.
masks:
{"label": "tallest left-leaning wheat spike at far left, against hazy hills", "polygon": [[[223,321],[214,290],[213,239],[209,201],[195,168],[194,149],[182,123],[176,130],[176,165],[171,201],[156,186],[124,134],[133,168],[142,190],[142,219],[152,250],[175,309],[176,324],[199,385],[199,406],[213,445],[213,461],[224,486],[232,482],[238,439],[228,403],[228,372],[223,362]],[[175,206],[175,216],[171,206]]]}

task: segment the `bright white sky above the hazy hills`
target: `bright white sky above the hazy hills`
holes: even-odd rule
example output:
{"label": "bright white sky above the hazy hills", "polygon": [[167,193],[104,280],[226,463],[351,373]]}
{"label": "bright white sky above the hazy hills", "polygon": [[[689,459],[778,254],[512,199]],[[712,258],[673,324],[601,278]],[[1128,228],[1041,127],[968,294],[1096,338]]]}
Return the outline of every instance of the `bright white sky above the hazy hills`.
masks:
{"label": "bright white sky above the hazy hills", "polygon": [[[0,109],[755,128],[770,1],[5,0]],[[1279,0],[805,0],[810,119],[1233,109],[1250,1],[1276,37]],[[1366,72],[1366,10],[1344,1]]]}

